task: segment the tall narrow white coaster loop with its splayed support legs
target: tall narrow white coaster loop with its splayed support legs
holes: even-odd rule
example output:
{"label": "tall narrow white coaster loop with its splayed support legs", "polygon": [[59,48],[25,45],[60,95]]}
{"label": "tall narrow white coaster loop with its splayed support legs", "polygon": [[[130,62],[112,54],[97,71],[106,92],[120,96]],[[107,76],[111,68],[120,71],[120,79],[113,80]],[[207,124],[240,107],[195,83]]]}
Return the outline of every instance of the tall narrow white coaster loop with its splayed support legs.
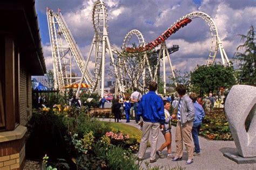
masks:
{"label": "tall narrow white coaster loop with its splayed support legs", "polygon": [[[119,51],[116,48],[113,48],[110,44],[109,35],[107,32],[107,9],[105,3],[101,0],[98,0],[93,5],[92,9],[92,25],[95,30],[95,35],[93,36],[91,48],[89,51],[88,58],[86,60],[85,68],[87,67],[89,60],[92,56],[92,50],[95,50],[95,69],[93,72],[93,77],[91,81],[91,88],[93,91],[96,90],[97,85],[101,83],[100,87],[98,86],[98,93],[101,97],[104,96],[104,81],[105,81],[105,57],[106,51],[108,49],[109,57],[111,59],[111,63],[114,67],[114,72],[116,72],[116,80],[119,84],[119,90],[124,91],[123,87],[120,85],[120,78],[117,70],[117,66],[114,64],[113,51]],[[80,80],[82,83],[83,78]],[[78,96],[79,88],[77,91]]]}

